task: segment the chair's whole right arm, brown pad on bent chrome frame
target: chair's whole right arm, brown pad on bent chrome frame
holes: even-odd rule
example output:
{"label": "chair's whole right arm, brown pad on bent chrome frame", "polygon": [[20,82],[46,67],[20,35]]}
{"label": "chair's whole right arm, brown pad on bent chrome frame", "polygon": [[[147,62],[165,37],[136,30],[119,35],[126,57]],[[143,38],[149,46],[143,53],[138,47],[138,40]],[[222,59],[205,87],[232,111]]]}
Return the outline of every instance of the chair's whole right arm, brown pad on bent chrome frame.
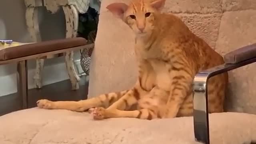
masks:
{"label": "chair's whole right arm, brown pad on bent chrome frame", "polygon": [[225,64],[199,72],[194,77],[194,135],[196,141],[204,144],[210,144],[207,97],[208,79],[256,62],[256,43],[226,54],[224,61]]}

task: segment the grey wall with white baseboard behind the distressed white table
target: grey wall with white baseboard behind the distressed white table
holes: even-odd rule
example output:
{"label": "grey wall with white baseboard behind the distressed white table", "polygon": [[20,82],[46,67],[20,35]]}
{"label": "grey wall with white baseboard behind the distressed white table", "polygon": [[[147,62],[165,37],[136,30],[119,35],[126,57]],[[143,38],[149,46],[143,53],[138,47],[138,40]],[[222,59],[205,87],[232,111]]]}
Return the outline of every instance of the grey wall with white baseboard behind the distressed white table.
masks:
{"label": "grey wall with white baseboard behind the distressed white table", "polygon": [[[50,14],[45,8],[40,8],[40,30],[42,40],[65,38],[66,26],[62,10]],[[31,42],[26,29],[25,6],[23,0],[1,0],[0,3],[0,39],[12,39],[18,42]],[[79,59],[79,52],[76,52]],[[35,60],[28,62],[29,88],[34,88],[33,76]],[[63,58],[46,61],[43,84],[51,84],[68,79]],[[16,92],[16,64],[0,66],[0,96]]]}

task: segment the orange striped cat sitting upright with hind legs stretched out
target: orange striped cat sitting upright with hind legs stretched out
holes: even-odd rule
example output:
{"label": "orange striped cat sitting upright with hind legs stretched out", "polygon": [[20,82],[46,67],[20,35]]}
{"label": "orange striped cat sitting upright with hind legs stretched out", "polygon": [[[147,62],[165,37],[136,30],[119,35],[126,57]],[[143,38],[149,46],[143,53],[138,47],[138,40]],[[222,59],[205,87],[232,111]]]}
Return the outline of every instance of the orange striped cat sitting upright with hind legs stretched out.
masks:
{"label": "orange striped cat sitting upright with hind legs stretched out", "polygon": [[[131,90],[88,100],[38,100],[39,108],[89,110],[94,119],[141,119],[192,116],[192,82],[201,70],[223,64],[223,58],[172,14],[161,14],[165,0],[113,3],[108,10],[136,34],[138,81]],[[209,80],[208,110],[223,112],[228,74]]]}

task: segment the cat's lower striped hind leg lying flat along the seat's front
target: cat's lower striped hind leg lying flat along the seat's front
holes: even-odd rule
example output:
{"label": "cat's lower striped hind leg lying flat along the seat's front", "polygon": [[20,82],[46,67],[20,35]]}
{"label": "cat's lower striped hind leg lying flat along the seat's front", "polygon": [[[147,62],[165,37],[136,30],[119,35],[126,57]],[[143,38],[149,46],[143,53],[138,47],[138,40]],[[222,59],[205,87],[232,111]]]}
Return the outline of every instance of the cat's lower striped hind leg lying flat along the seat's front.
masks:
{"label": "cat's lower striped hind leg lying flat along the seat's front", "polygon": [[140,118],[152,120],[154,118],[160,118],[158,110],[155,108],[144,108],[141,110],[118,110],[118,109],[105,109],[102,107],[94,108],[91,111],[94,120],[102,120],[104,118]]}

